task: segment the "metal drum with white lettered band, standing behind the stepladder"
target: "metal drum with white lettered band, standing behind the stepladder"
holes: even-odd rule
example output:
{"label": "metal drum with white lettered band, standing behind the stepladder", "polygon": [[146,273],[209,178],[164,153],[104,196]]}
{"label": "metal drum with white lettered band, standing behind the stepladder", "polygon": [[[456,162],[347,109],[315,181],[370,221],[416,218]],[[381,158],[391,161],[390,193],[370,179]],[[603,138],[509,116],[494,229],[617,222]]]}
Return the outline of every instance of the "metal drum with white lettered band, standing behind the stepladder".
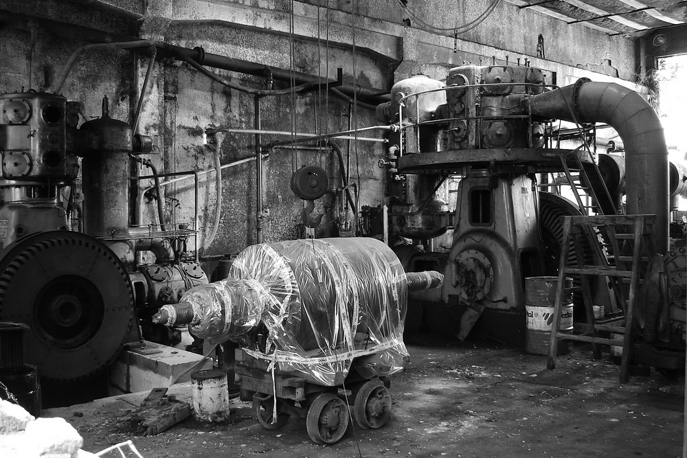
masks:
{"label": "metal drum with white lettered band, standing behind the stepladder", "polygon": [[[530,354],[548,354],[551,324],[554,320],[558,277],[528,277],[525,279],[525,351]],[[565,288],[572,288],[572,278],[565,279]],[[559,331],[572,334],[572,293],[564,293]],[[557,354],[572,350],[572,341],[559,341]]]}

